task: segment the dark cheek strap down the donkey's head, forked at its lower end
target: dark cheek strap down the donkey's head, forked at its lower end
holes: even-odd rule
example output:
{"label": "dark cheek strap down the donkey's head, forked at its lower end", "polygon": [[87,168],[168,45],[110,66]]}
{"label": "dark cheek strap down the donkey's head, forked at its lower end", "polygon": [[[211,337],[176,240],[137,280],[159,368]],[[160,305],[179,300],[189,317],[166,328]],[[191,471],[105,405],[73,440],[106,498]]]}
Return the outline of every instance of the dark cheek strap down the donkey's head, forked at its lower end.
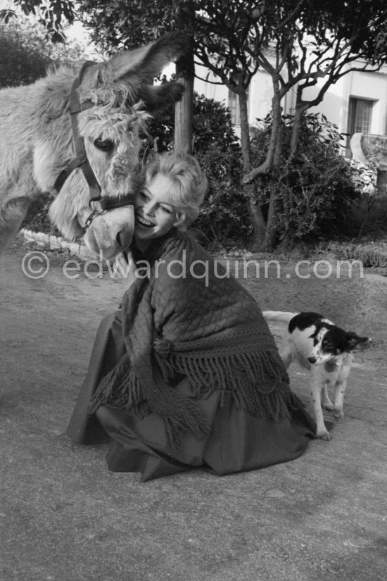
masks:
{"label": "dark cheek strap down the donkey's head, forked at its lower end", "polygon": [[80,74],[72,83],[70,92],[70,118],[72,127],[72,139],[75,145],[75,158],[73,158],[70,163],[68,163],[67,167],[61,171],[56,179],[54,187],[58,193],[61,191],[65,181],[68,179],[70,174],[76,168],[80,168],[87,181],[87,184],[89,185],[91,197],[99,196],[101,194],[101,186],[99,185],[94,171],[91,169],[89,160],[87,159],[86,150],[84,149],[84,139],[80,136],[78,128],[78,113],[94,106],[92,101],[84,101],[81,104],[78,90],[80,88],[85,71],[87,68],[94,64],[95,63],[93,61],[87,61],[84,63],[80,70]]}

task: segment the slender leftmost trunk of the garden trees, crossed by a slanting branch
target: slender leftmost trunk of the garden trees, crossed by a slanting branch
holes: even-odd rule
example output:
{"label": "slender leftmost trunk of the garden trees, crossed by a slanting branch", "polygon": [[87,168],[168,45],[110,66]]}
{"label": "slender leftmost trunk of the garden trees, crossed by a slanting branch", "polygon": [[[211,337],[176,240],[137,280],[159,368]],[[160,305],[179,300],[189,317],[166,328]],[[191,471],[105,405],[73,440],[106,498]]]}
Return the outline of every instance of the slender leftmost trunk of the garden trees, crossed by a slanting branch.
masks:
{"label": "slender leftmost trunk of the garden trees, crossed by a slanting branch", "polygon": [[[248,112],[246,89],[239,92],[239,113],[241,117],[241,150],[243,160],[243,173],[246,175],[251,170],[250,156],[250,136],[248,132]],[[257,189],[255,182],[244,184],[243,190],[248,196],[248,213],[250,222],[253,225],[253,235],[251,237],[250,249],[258,250],[265,236],[266,222],[262,209],[258,204]]]}

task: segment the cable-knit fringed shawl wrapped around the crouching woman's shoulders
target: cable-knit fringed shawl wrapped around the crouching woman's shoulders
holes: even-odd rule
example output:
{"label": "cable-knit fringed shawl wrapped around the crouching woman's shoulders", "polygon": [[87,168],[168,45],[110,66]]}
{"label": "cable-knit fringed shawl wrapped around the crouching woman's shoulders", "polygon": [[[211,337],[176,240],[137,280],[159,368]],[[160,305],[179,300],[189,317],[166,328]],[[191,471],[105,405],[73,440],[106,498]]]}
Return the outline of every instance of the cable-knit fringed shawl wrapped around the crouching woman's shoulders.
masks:
{"label": "cable-knit fringed shawl wrapped around the crouching woman's shoulders", "polygon": [[[299,402],[253,297],[189,235],[156,243],[137,256],[139,278],[123,297],[127,354],[101,380],[90,413],[105,404],[153,412],[172,439],[184,430],[202,437],[195,398],[218,389],[253,416],[288,416]],[[192,397],[175,389],[184,377]]]}

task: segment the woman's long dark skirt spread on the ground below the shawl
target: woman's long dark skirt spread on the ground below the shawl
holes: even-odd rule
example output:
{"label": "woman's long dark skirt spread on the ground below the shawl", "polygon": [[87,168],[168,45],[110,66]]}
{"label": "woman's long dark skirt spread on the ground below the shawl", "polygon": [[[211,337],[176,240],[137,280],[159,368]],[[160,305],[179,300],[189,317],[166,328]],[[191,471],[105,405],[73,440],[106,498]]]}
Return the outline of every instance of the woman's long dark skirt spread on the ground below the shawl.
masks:
{"label": "woman's long dark skirt spread on the ground below the shawl", "polygon": [[[94,416],[89,401],[101,377],[125,354],[120,311],[103,319],[94,342],[89,370],[67,433],[77,444],[110,442],[108,467],[113,472],[140,472],[142,481],[201,467],[217,475],[255,470],[297,458],[312,437],[312,422],[303,408],[291,418],[256,418],[220,392],[196,400],[210,434],[204,439],[183,435],[172,448],[162,418],[139,418],[132,411],[101,406]],[[190,394],[189,382],[176,389]]]}

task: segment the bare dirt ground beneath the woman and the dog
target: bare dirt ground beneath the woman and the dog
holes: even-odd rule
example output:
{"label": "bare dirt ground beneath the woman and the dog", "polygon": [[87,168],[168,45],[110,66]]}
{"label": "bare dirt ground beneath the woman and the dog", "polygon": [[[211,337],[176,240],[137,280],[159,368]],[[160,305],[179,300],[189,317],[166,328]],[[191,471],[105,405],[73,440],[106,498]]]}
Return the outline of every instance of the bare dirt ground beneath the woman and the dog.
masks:
{"label": "bare dirt ground beneath the woman and the dog", "polygon": [[[2,581],[386,578],[387,277],[336,277],[329,256],[300,276],[284,261],[279,278],[274,264],[242,278],[262,308],[321,311],[373,337],[357,354],[345,417],[296,461],[141,484],[108,471],[106,446],[65,436],[96,328],[125,283],[98,268],[91,278],[84,263],[66,276],[70,257],[50,252],[34,279],[25,272],[42,263],[30,251],[15,242],[0,262]],[[280,344],[284,329],[272,330]],[[291,370],[291,385],[307,403],[303,370]]]}

